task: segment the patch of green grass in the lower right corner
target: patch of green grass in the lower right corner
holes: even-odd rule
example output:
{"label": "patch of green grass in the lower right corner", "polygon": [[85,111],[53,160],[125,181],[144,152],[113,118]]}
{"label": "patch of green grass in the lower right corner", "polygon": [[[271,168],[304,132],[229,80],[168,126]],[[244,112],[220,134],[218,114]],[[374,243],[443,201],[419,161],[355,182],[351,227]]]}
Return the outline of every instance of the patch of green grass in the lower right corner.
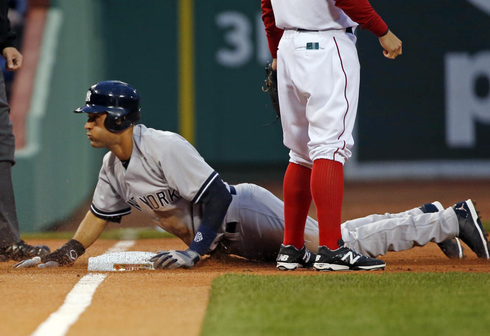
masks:
{"label": "patch of green grass in the lower right corner", "polygon": [[202,335],[486,335],[490,274],[227,274]]}

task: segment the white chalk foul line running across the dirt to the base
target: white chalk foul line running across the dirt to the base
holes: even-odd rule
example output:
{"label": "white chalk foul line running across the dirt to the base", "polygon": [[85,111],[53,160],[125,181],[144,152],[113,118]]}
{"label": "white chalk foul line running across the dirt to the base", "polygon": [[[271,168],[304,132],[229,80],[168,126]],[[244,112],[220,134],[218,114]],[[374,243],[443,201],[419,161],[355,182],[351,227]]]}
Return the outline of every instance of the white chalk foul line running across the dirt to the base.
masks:
{"label": "white chalk foul line running across the dirt to the base", "polygon": [[[134,245],[135,241],[120,241],[108,249],[106,253],[124,252]],[[68,293],[65,302],[53,314],[41,323],[31,336],[63,336],[72,324],[92,302],[97,287],[104,281],[107,274],[90,273],[82,277]]]}

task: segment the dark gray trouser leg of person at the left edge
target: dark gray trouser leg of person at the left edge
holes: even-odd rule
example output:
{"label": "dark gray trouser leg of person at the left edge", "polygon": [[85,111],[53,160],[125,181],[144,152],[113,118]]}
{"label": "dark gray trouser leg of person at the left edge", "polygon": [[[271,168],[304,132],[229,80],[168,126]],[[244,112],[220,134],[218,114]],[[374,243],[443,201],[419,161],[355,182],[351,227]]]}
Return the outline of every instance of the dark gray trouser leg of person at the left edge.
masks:
{"label": "dark gray trouser leg of person at the left edge", "polygon": [[11,176],[15,140],[9,114],[4,76],[0,71],[0,248],[20,241]]}

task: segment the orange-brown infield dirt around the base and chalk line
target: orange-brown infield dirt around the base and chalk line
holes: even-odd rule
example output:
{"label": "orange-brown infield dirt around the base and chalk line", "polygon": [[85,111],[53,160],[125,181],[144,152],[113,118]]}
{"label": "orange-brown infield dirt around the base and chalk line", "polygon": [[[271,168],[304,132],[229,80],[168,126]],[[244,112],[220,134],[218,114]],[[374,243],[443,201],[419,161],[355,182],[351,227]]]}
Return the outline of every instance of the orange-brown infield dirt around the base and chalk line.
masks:
{"label": "orange-brown infield dirt around the base and chalk line", "polygon": [[[32,242],[41,243],[41,242]],[[64,241],[48,239],[52,249]],[[116,241],[95,242],[72,267],[52,270],[13,270],[13,262],[0,263],[0,315],[9,317],[0,334],[28,335],[62,305],[72,287],[87,274],[88,257],[102,254]],[[157,251],[182,249],[177,238],[143,239],[130,249]],[[450,260],[430,243],[422,248],[390,252],[384,272],[490,272],[490,263],[476,258],[468,248],[463,260]],[[91,305],[69,329],[68,335],[197,335],[205,315],[209,286],[218,275],[229,272],[261,275],[335,276],[338,273],[298,270],[279,272],[274,265],[239,257],[205,258],[190,270],[110,272],[97,288]],[[381,271],[377,271],[381,273]],[[191,311],[189,307],[192,307]],[[192,322],[190,322],[192,321]]]}

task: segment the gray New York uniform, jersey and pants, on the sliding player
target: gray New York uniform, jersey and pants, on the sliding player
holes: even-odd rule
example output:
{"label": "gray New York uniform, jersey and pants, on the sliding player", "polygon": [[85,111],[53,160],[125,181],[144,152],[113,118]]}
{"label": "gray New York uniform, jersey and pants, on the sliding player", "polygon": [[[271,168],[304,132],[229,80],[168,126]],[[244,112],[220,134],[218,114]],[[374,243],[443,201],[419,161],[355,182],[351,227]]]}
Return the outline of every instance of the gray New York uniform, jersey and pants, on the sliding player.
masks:
{"label": "gray New York uniform, jersey and pants, on the sliding player", "polygon": [[[113,153],[104,157],[91,211],[118,218],[136,208],[190,245],[201,224],[199,200],[215,178],[218,174],[183,137],[137,125],[127,169]],[[210,250],[275,260],[284,235],[284,203],[255,184],[227,187],[233,200]],[[377,256],[452,238],[458,234],[457,223],[451,208],[435,213],[414,208],[348,221],[341,232],[349,247]],[[313,252],[318,249],[318,224],[310,217],[305,244]]]}

